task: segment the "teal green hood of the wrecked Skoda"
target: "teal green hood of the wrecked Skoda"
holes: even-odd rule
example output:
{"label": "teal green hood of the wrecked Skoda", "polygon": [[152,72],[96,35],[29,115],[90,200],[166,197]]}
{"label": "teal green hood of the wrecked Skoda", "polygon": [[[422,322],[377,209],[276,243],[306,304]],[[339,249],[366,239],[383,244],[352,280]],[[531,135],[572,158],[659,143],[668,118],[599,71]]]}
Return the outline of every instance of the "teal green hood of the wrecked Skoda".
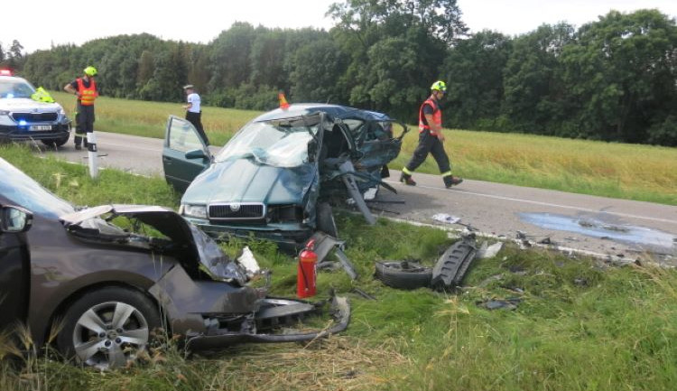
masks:
{"label": "teal green hood of the wrecked Skoda", "polygon": [[195,178],[181,203],[301,204],[316,174],[312,163],[293,168],[259,164],[248,158],[215,163]]}

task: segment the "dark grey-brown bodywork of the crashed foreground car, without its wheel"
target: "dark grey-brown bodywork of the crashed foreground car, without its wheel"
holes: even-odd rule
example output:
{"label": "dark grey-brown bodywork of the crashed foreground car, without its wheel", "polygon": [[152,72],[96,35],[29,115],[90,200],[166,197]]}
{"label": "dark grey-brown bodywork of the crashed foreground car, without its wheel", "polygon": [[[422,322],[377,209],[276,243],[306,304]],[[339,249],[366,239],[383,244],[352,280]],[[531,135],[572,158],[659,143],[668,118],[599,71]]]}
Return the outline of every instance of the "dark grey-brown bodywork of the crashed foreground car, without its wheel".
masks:
{"label": "dark grey-brown bodywork of the crashed foreground car, without its wheel", "polygon": [[[87,331],[84,314],[78,318],[76,313],[69,319],[74,316],[72,308],[88,297],[107,292],[124,292],[151,303],[152,312],[159,313],[165,327],[186,337],[188,345],[195,348],[214,349],[243,341],[310,340],[327,333],[290,336],[263,330],[264,321],[274,321],[270,311],[264,315],[263,310],[293,304],[311,312],[315,307],[266,298],[265,288],[247,284],[243,265],[225,256],[216,242],[171,209],[104,205],[76,210],[1,158],[0,177],[0,208],[18,206],[32,212],[32,227],[27,232],[0,233],[0,297],[5,298],[0,301],[0,326],[24,322],[38,346],[60,320],[66,324],[60,334],[72,333],[76,339],[76,330]],[[155,232],[153,236],[133,233],[112,224],[111,219],[130,220]],[[348,303],[335,300],[340,307],[340,324],[329,332],[348,325]],[[117,303],[117,299],[103,296],[100,304],[109,301]],[[91,307],[99,308],[97,305]],[[143,309],[138,312],[144,315]],[[140,318],[143,322],[144,317]],[[75,323],[75,330],[69,329],[70,323]],[[136,325],[126,337],[136,338],[140,329]],[[112,330],[104,336],[106,332],[101,332],[105,339],[102,344],[125,338],[125,330],[117,334]],[[69,340],[70,335],[66,335],[61,345],[69,345]],[[88,340],[83,346],[85,342]],[[75,345],[60,348],[80,353]],[[88,352],[83,348],[82,354],[87,356]],[[101,362],[81,361],[89,365]],[[108,364],[123,363],[97,366]]]}

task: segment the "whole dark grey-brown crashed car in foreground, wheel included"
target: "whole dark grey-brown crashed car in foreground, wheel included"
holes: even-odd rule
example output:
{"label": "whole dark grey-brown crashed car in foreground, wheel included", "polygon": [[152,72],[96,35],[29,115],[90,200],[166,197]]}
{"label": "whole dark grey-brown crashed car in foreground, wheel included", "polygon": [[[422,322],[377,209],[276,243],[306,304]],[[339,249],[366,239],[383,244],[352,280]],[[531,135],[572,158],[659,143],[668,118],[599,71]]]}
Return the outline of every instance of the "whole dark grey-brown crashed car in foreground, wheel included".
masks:
{"label": "whole dark grey-brown crashed car in foreground, wheel included", "polygon": [[[23,323],[43,346],[85,366],[123,367],[153,341],[188,349],[312,340],[348,327],[348,301],[268,297],[257,265],[157,206],[75,209],[0,158],[0,331]],[[322,330],[290,329],[329,310]]]}

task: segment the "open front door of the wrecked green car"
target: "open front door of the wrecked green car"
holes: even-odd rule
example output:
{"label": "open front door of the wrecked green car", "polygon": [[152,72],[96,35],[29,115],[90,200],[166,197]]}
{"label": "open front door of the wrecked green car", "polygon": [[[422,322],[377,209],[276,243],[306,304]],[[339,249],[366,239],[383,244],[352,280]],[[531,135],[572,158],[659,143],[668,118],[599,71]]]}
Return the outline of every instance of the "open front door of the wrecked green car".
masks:
{"label": "open front door of the wrecked green car", "polygon": [[164,134],[162,168],[164,179],[177,191],[186,191],[190,182],[212,162],[209,147],[195,126],[186,119],[170,116]]}

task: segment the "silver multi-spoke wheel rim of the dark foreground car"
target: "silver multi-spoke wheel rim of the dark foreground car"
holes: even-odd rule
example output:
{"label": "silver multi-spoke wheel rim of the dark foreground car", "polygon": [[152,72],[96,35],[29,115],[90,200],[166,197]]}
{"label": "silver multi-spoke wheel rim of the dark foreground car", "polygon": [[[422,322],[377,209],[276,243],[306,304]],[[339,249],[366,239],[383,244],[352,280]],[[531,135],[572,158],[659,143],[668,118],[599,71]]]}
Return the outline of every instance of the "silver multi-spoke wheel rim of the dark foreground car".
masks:
{"label": "silver multi-spoke wheel rim of the dark foreground car", "polygon": [[100,303],[79,317],[73,330],[73,348],[85,365],[120,368],[145,349],[149,335],[148,321],[134,306]]}

